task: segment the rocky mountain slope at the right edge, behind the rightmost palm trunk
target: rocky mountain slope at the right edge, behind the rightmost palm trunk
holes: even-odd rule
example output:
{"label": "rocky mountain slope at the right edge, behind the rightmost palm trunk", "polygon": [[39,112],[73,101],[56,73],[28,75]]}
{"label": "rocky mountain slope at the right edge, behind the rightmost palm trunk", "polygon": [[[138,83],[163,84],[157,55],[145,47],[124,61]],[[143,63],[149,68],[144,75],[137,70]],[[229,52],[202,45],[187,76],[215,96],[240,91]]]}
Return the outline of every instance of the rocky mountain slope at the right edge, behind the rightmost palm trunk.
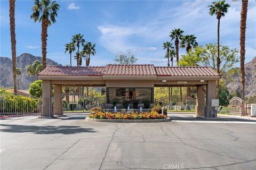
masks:
{"label": "rocky mountain slope at the right edge, behind the rightmost palm trunk", "polygon": [[[255,96],[256,95],[256,57],[252,61],[246,63],[245,69],[245,95]],[[240,74],[234,74],[232,80],[227,83],[227,88],[231,93],[234,93],[237,89],[241,91],[241,76]]]}

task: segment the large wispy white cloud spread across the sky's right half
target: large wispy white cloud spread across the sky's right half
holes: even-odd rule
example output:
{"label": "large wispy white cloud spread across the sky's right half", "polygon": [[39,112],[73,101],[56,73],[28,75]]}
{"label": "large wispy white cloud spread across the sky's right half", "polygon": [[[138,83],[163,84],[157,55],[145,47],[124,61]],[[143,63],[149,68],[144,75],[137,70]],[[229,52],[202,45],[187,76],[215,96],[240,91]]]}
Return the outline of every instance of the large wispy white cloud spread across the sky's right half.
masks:
{"label": "large wispy white cloud spread across the sky's right half", "polygon": [[[221,19],[220,41],[225,45],[233,42],[234,45],[230,45],[230,47],[239,48],[241,3],[231,1],[228,3],[231,7],[226,16]],[[116,24],[100,25],[98,27],[101,32],[100,43],[111,53],[135,53],[139,59],[138,63],[145,61],[143,61],[143,57],[164,56],[165,51],[160,46],[162,47],[162,43],[166,40],[170,40],[169,34],[174,28],[183,29],[185,34],[194,34],[200,45],[217,43],[217,19],[215,16],[209,15],[207,7],[209,4],[211,1],[186,1],[177,7],[170,8],[163,3],[154,17],[138,17],[137,20],[130,23],[115,22]],[[255,11],[255,2],[253,2],[249,6],[247,14],[247,54],[252,54],[249,44],[255,42],[255,30],[253,29],[255,28]],[[149,50],[151,50],[150,57],[148,56]],[[185,53],[185,49],[180,49],[180,55],[183,53]]]}

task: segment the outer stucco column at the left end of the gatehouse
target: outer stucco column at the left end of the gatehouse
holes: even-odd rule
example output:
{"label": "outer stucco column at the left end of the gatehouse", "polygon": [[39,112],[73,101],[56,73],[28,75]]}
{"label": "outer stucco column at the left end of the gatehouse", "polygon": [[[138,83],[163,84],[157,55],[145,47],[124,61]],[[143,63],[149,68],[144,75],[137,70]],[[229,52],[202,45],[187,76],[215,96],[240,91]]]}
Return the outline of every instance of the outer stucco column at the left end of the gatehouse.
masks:
{"label": "outer stucco column at the left end of the gatehouse", "polygon": [[50,80],[43,80],[43,105],[41,116],[52,116],[51,114],[51,96],[52,96],[52,86]]}

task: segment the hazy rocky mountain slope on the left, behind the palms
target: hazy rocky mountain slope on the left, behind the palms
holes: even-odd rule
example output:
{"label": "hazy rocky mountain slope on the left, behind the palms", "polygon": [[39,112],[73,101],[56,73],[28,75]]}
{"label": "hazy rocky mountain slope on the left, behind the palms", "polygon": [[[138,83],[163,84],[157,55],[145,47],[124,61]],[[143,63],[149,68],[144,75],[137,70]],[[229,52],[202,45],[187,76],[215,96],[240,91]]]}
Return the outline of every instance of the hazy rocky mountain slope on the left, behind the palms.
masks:
{"label": "hazy rocky mountain slope on the left, behind the palms", "polygon": [[[17,57],[16,67],[20,68],[21,75],[19,75],[19,89],[28,89],[32,79],[35,81],[36,77],[29,77],[26,73],[26,66],[32,64],[34,61],[42,61],[42,57],[36,57],[28,53],[23,53]],[[47,58],[46,65],[60,65]],[[12,78],[12,60],[7,57],[0,57],[0,87],[11,87],[13,86]]]}

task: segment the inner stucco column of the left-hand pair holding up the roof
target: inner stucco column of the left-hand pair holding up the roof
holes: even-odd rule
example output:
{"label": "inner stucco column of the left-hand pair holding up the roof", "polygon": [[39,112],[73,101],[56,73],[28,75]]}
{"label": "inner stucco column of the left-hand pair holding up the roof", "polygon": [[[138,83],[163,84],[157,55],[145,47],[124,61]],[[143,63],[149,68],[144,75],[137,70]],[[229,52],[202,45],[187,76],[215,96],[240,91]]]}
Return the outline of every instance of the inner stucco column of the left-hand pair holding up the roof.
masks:
{"label": "inner stucco column of the left-hand pair holding up the roof", "polygon": [[54,90],[54,105],[53,105],[53,115],[62,116],[62,87],[61,85],[53,86]]}

